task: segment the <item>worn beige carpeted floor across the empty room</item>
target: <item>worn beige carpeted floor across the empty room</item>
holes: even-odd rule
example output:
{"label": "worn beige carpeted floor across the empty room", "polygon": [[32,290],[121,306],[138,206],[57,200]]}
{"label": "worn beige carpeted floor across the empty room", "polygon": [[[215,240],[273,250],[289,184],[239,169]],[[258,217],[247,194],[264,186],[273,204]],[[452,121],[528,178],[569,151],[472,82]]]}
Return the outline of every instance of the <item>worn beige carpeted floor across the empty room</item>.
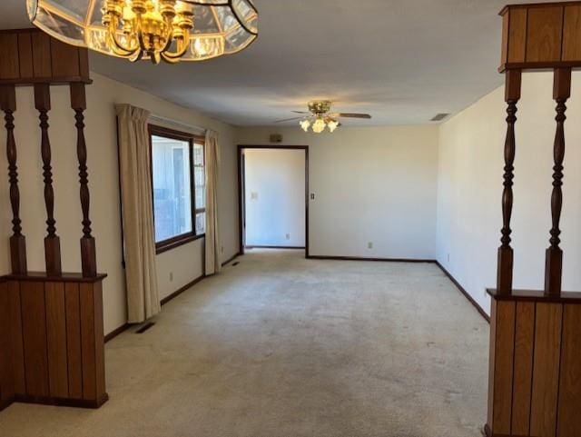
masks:
{"label": "worn beige carpeted floor across the empty room", "polygon": [[251,251],[106,347],[98,411],[15,403],[2,437],[478,437],[488,325],[430,263]]}

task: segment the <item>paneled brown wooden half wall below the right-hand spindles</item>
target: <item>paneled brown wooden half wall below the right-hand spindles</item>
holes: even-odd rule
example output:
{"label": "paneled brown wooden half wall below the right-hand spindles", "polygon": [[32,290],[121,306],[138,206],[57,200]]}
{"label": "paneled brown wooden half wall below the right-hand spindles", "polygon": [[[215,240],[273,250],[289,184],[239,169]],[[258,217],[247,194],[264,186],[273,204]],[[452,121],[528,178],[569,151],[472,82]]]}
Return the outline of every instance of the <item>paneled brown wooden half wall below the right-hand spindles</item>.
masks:
{"label": "paneled brown wooden half wall below the right-hand spindles", "polygon": [[581,294],[489,293],[487,435],[581,436]]}

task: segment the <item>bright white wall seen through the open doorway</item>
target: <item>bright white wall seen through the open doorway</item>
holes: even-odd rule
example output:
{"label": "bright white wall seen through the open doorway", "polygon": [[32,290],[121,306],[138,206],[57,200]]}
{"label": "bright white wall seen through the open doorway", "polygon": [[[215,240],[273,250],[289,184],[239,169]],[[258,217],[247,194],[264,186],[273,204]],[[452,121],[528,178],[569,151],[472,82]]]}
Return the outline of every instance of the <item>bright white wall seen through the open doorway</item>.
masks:
{"label": "bright white wall seen through the open doorway", "polygon": [[246,245],[305,246],[305,151],[246,149]]}

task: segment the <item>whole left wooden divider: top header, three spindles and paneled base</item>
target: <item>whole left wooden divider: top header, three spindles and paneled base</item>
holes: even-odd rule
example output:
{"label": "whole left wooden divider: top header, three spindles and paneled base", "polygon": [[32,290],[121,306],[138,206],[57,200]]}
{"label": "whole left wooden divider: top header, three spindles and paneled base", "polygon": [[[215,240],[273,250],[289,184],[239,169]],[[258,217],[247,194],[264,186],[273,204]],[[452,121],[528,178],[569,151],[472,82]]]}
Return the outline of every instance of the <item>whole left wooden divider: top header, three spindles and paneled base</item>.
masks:
{"label": "whole left wooden divider: top header, three spindles and paneled base", "polygon": [[[5,114],[5,146],[12,210],[12,274],[0,277],[0,410],[11,402],[35,402],[96,408],[105,392],[103,289],[97,273],[95,239],[89,218],[87,147],[84,138],[85,84],[90,84],[87,50],[65,45],[37,29],[0,32],[0,106]],[[54,218],[50,110],[51,87],[66,84],[71,92],[71,124],[82,222],[66,238],[80,237],[82,273],[63,273],[60,237]],[[39,114],[39,144],[17,144],[15,86],[34,86]],[[31,129],[34,126],[24,126]],[[42,163],[46,223],[46,271],[27,269],[25,229],[20,219],[18,152],[36,149],[25,159]],[[0,205],[6,208],[8,205]]]}

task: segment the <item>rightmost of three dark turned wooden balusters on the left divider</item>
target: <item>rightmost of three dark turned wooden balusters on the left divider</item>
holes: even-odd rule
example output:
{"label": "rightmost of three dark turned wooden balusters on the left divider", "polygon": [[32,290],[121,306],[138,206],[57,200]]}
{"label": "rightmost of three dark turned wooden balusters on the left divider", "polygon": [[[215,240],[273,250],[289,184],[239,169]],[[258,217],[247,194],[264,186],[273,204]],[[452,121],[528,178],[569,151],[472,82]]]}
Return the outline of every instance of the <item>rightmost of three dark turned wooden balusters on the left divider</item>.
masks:
{"label": "rightmost of three dark turned wooden balusters on the left divider", "polygon": [[83,237],[81,238],[81,262],[83,275],[94,277],[97,275],[97,261],[94,237],[91,234],[91,220],[89,219],[89,174],[87,173],[87,146],[84,140],[84,110],[87,107],[84,84],[71,84],[71,107],[74,109],[76,120],[76,154],[79,160],[79,182],[81,184],[80,197],[83,211]]}

